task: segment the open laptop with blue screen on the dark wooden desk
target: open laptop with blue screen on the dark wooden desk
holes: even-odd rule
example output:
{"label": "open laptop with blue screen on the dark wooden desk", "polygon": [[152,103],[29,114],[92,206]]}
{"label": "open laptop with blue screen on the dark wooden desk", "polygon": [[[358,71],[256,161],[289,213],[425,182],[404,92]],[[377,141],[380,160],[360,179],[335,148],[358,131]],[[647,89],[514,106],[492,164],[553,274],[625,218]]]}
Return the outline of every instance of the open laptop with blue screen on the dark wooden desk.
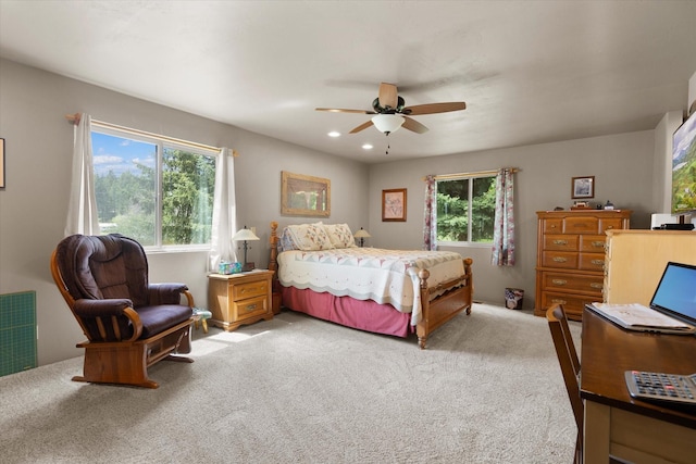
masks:
{"label": "open laptop with blue screen on the dark wooden desk", "polygon": [[696,334],[696,266],[667,263],[649,308],[638,303],[587,308],[629,330]]}

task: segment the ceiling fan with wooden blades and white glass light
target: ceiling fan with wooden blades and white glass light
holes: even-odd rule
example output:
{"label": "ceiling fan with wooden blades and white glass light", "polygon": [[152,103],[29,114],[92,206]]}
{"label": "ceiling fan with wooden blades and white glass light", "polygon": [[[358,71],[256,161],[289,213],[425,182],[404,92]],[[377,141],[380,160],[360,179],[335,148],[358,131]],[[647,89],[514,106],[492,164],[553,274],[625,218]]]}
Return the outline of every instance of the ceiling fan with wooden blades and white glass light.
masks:
{"label": "ceiling fan with wooden blades and white glass light", "polygon": [[370,126],[375,126],[377,130],[387,136],[399,127],[412,130],[417,134],[427,131],[427,127],[409,116],[422,114],[447,113],[450,111],[465,110],[467,103],[463,101],[448,103],[427,103],[407,106],[406,101],[399,97],[394,84],[380,84],[380,96],[372,102],[373,111],[370,110],[345,110],[337,108],[318,108],[316,111],[331,111],[334,113],[361,113],[375,114],[366,123],[352,129],[350,134],[359,133]]}

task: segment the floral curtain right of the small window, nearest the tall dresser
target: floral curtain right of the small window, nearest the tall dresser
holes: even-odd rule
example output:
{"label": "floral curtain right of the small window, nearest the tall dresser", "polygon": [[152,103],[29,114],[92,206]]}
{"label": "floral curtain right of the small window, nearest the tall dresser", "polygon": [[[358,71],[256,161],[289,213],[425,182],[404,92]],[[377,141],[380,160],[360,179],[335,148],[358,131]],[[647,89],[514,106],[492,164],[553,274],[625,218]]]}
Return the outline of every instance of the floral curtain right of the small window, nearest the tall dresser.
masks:
{"label": "floral curtain right of the small window, nearest the tall dresser", "polygon": [[496,215],[490,264],[514,265],[514,170],[504,167],[496,177]]}

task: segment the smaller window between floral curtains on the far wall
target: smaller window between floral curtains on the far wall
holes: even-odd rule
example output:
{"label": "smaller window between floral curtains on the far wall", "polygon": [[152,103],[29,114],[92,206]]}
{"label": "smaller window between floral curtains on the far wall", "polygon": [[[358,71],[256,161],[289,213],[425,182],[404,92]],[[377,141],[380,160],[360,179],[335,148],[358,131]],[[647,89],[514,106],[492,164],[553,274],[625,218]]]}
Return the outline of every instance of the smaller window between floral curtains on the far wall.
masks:
{"label": "smaller window between floral curtains on the far wall", "polygon": [[495,175],[437,180],[436,186],[437,242],[493,242]]}

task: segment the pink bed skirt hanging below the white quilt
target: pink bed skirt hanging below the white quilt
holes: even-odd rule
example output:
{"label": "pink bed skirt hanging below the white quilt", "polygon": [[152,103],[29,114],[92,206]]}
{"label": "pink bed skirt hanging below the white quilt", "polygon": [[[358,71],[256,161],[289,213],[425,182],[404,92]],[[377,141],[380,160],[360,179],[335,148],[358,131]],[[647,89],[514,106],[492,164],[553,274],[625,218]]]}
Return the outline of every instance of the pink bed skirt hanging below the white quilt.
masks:
{"label": "pink bed skirt hanging below the white quilt", "polygon": [[346,327],[375,334],[407,337],[413,333],[411,314],[401,313],[389,304],[378,304],[372,300],[362,301],[350,297],[334,297],[313,290],[282,287],[283,306],[331,321]]}

